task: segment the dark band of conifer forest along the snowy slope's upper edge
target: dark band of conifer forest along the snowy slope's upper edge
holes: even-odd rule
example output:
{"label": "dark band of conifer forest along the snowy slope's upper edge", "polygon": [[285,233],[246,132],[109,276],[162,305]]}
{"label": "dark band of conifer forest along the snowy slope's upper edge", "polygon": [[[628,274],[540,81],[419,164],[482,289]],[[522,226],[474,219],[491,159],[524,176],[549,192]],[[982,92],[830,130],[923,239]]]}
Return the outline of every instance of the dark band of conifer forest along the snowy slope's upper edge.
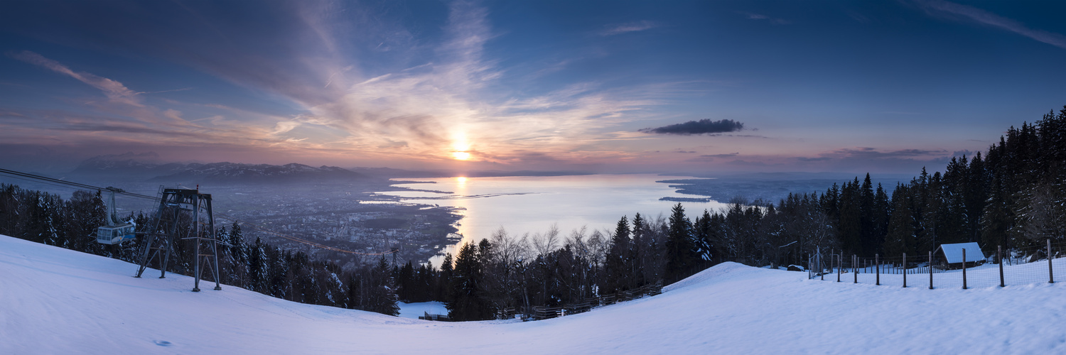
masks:
{"label": "dark band of conifer forest along the snowy slope's upper edge", "polygon": [[[235,223],[219,230],[223,284],[294,302],[397,314],[397,301],[446,303],[452,320],[529,313],[668,285],[725,261],[804,264],[819,251],[844,255],[915,255],[937,245],[979,242],[1029,251],[1066,232],[1066,107],[1011,127],[984,154],[955,157],[943,173],[923,168],[888,189],[863,179],[776,203],[729,200],[690,219],[678,204],[666,216],[621,216],[613,230],[512,236],[499,229],[447,255],[441,265],[392,264],[385,256],[354,270],[247,242]],[[139,237],[126,245],[88,238],[106,211],[100,194],[58,195],[0,185],[0,233],[133,261]],[[139,226],[143,214],[130,215]],[[191,252],[178,243],[168,271],[189,275]]]}

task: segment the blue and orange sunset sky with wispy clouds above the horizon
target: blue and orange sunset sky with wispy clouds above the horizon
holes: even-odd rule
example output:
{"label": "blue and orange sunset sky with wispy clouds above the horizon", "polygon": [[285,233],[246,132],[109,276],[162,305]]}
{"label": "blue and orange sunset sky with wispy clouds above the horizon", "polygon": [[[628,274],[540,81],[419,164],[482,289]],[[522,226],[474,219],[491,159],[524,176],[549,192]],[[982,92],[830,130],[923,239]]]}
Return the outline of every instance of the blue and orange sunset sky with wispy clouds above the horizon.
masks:
{"label": "blue and orange sunset sky with wispy clouds above the horizon", "polygon": [[1066,104],[1063,1],[4,1],[0,167],[942,168]]}

